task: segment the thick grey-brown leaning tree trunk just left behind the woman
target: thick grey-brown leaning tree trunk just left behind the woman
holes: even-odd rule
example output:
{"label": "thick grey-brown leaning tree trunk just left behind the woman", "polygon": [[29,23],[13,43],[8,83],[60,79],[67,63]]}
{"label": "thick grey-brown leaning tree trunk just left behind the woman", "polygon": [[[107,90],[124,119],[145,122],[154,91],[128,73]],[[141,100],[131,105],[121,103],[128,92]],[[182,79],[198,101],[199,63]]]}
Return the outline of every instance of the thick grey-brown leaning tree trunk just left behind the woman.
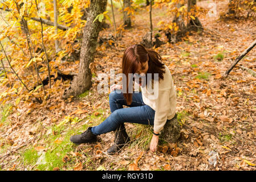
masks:
{"label": "thick grey-brown leaning tree trunk just left behind the woman", "polygon": [[91,0],[86,26],[83,29],[83,42],[80,53],[78,76],[74,78],[70,88],[64,91],[62,99],[67,99],[70,96],[78,96],[92,86],[92,73],[89,65],[94,61],[97,38],[101,30],[101,23],[99,20],[96,20],[94,23],[92,22],[97,15],[105,11],[106,6],[107,0]]}

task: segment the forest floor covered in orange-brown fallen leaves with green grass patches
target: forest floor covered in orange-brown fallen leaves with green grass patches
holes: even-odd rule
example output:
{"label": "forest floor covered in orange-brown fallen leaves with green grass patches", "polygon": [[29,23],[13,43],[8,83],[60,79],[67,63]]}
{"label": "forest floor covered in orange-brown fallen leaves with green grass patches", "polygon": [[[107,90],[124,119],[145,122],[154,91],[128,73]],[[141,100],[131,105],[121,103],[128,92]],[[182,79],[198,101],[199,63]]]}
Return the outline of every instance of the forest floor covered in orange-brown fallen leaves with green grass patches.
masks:
{"label": "forest floor covered in orange-brown fallen leaves with green grass patches", "polygon": [[[207,1],[208,2],[208,1]],[[200,4],[206,6],[206,1]],[[218,4],[223,11],[226,2]],[[118,13],[118,11],[116,11]],[[96,75],[121,70],[124,49],[140,43],[149,31],[148,11],[139,10],[132,28],[116,40],[117,46],[97,47]],[[153,9],[153,27],[165,17]],[[76,146],[71,135],[98,125],[110,114],[108,94],[93,87],[78,98],[61,100],[69,82],[59,84],[47,105],[6,103],[0,121],[0,169],[2,170],[255,170],[256,78],[239,68],[256,71],[253,49],[227,78],[221,78],[235,58],[256,38],[255,18],[200,18],[202,32],[192,32],[176,44],[155,50],[172,73],[177,90],[177,113],[182,133],[173,151],[149,151],[152,127],[126,123],[131,144],[118,154],[105,153],[114,133],[100,135],[100,142]],[[117,24],[121,19],[117,18]],[[113,28],[100,32],[112,34]],[[154,29],[154,34],[158,29]],[[153,34],[153,35],[154,35]],[[165,35],[160,39],[167,41]],[[66,64],[70,68],[70,63]],[[74,64],[73,72],[78,72]]]}

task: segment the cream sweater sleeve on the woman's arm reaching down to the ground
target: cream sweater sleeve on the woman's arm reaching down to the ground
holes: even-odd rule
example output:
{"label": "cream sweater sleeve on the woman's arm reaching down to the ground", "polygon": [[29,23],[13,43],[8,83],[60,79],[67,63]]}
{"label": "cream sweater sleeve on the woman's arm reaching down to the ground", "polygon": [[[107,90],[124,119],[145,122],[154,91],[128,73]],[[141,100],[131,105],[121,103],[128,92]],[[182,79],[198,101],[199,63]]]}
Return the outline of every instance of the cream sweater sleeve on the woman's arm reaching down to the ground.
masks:
{"label": "cream sweater sleeve on the woman's arm reaching down to the ground", "polygon": [[159,89],[159,97],[156,99],[156,111],[154,119],[154,130],[160,132],[164,129],[164,125],[167,120],[167,115],[169,112],[169,94],[170,89],[164,88]]}

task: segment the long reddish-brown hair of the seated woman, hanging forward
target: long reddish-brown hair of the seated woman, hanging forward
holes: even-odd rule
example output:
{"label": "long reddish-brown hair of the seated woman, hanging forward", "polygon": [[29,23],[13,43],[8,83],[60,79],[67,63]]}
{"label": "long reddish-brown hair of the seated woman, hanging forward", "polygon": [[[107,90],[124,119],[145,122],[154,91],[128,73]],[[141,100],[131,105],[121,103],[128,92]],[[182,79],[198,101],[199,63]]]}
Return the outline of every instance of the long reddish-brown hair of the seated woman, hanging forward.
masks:
{"label": "long reddish-brown hair of the seated woman, hanging forward", "polygon": [[[126,76],[126,93],[123,93],[124,98],[127,101],[127,104],[130,105],[132,103],[132,93],[128,92],[128,85],[129,78],[128,74],[132,73],[135,74],[139,67],[141,66],[141,63],[145,63],[148,60],[148,72],[152,73],[152,78],[154,79],[154,73],[159,74],[159,80],[164,78],[164,63],[162,63],[162,58],[156,51],[153,51],[152,49],[145,48],[141,44],[134,44],[132,46],[129,46],[125,49],[124,55],[123,55],[123,62],[122,62],[122,72]],[[146,76],[147,78],[147,76]],[[146,81],[147,83],[147,81]]]}

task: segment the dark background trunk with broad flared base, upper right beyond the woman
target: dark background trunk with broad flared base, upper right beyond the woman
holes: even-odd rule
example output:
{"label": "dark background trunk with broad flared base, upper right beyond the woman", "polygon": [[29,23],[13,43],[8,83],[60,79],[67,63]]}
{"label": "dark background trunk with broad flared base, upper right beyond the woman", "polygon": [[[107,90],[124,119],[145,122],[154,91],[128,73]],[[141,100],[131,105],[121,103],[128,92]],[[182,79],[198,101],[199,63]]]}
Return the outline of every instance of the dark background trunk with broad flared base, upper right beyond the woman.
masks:
{"label": "dark background trunk with broad flared base, upper right beyond the woman", "polygon": [[[197,5],[197,0],[188,0],[188,13],[190,12],[190,10],[193,8],[193,6]],[[193,30],[193,31],[201,31],[202,28],[202,24],[200,22],[200,20],[198,19],[197,16],[193,15],[194,18],[196,19],[192,19],[190,18],[189,22],[188,22],[188,29],[189,30]]]}

